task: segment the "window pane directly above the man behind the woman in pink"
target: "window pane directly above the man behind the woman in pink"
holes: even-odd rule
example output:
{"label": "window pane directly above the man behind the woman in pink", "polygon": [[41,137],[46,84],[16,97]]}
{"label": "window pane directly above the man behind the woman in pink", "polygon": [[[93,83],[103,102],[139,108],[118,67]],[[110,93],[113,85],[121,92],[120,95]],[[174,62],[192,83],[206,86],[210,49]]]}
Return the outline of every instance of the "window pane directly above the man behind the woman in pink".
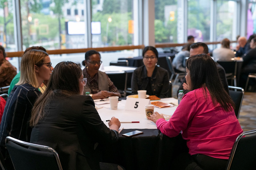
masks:
{"label": "window pane directly above the man behind the woman in pink", "polygon": [[210,41],[210,0],[188,1],[187,35],[193,35],[195,41]]}

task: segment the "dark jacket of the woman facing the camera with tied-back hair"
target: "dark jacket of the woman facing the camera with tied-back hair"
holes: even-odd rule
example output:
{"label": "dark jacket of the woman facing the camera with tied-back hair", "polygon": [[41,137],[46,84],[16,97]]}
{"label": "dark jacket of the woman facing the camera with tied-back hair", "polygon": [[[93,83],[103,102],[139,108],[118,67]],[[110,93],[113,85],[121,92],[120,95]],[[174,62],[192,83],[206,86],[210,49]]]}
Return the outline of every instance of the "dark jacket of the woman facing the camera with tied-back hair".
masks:
{"label": "dark jacket of the woman facing the camera with tied-back hair", "polygon": [[[155,67],[151,77],[151,89],[153,94],[157,97],[165,98],[168,97],[169,92],[169,74],[168,71],[161,68]],[[149,80],[147,77],[147,70],[145,65],[140,66],[134,70],[132,74],[132,94],[137,94],[137,90],[146,90]]]}

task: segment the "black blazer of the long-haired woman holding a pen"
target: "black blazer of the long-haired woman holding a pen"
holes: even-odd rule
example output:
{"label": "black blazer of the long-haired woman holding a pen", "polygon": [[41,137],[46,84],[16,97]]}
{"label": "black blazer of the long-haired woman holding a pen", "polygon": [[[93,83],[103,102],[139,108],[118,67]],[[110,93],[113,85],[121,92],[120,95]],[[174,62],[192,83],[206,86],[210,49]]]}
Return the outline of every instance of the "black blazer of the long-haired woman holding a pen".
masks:
{"label": "black blazer of the long-haired woman holding a pen", "polygon": [[33,129],[30,142],[52,147],[62,168],[100,169],[96,147],[118,140],[118,132],[101,120],[91,96],[55,96],[46,116]]}

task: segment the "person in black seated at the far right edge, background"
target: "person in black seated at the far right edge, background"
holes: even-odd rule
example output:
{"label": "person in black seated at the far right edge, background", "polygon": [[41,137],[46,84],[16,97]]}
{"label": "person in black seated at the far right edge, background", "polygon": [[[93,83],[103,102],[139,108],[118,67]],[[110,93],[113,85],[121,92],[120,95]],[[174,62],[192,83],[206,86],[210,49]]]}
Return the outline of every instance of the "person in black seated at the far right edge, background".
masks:
{"label": "person in black seated at the far right edge, background", "polygon": [[[245,83],[249,73],[256,73],[256,37],[250,42],[251,50],[243,56],[243,65],[239,85],[245,88]],[[255,84],[255,83],[254,83]],[[248,85],[253,85],[252,79]]]}

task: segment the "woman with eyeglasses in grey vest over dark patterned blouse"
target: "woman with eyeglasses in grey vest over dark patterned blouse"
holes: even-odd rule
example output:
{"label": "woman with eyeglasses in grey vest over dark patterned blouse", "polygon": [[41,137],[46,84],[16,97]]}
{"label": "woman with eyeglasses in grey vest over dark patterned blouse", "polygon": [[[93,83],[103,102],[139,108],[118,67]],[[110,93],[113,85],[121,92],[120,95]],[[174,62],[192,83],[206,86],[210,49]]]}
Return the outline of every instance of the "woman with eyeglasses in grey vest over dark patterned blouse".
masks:
{"label": "woman with eyeglasses in grey vest over dark patterned blouse", "polygon": [[85,53],[83,75],[87,78],[87,84],[84,88],[84,94],[85,92],[90,92],[93,99],[104,99],[109,96],[121,97],[108,75],[99,71],[102,63],[100,59],[100,53],[95,50],[89,50]]}

